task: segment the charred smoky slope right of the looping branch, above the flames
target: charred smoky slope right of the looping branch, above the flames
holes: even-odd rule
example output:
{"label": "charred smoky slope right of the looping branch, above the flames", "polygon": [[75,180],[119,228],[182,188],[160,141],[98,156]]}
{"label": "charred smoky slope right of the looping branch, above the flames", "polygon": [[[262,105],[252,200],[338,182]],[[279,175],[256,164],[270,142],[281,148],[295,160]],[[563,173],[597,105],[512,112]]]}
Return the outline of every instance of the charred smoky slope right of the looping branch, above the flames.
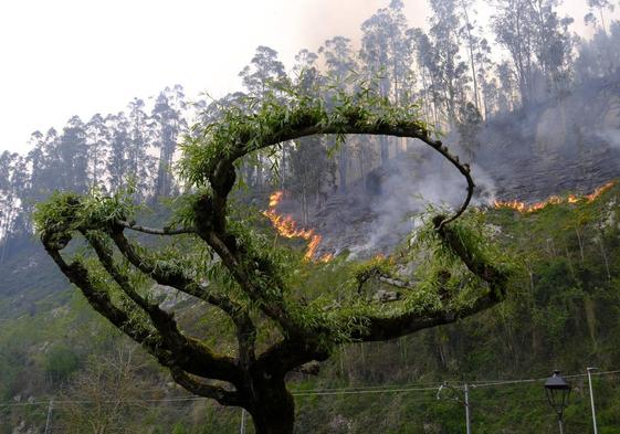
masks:
{"label": "charred smoky slope right of the looping branch, above the flames", "polygon": [[620,77],[595,81],[558,100],[496,116],[476,161],[497,198],[535,201],[589,192],[620,174]]}

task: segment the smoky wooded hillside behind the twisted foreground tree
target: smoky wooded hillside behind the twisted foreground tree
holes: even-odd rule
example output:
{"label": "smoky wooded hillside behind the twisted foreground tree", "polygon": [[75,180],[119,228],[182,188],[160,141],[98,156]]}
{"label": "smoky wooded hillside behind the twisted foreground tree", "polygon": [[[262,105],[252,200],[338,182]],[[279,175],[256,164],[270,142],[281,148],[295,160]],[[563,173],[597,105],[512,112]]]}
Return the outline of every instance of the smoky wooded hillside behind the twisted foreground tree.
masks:
{"label": "smoky wooded hillside behind the twisted foreground tree", "polygon": [[[237,93],[188,97],[175,85],[124,112],[35,131],[25,155],[1,154],[0,433],[238,432],[240,410],[188,398],[90,309],[35,240],[33,210],[55,190],[112,195],[130,187],[143,220],[162,225],[167,205],[188,189],[176,162],[183,137],[197,134],[192,125],[252,115],[267,95],[329,105],[339,91],[364,86],[417,107],[471,165],[476,215],[518,273],[508,299],[490,311],[389,342],[343,346],[318,374],[294,373],[296,432],[463,432],[462,404],[437,400],[443,381],[472,387],[476,433],[553,432],[539,379],[556,368],[577,375],[567,432],[589,432],[585,369],[620,370],[620,187],[587,197],[620,177],[620,22],[605,19],[611,2],[588,2],[593,38],[584,39],[571,29],[582,18],[563,17],[558,3],[497,0],[483,22],[470,0],[431,0],[424,30],[409,28],[392,0],[360,23],[359,44],[334,36],[301,50],[294,65],[259,46],[240,67]],[[306,273],[335,287],[341,283],[326,282],[327,272],[398,255],[397,240],[417,227],[429,201],[462,197],[441,161],[413,140],[385,136],[284,142],[251,155],[240,173],[234,199],[244,210],[260,215],[270,194],[283,191],[279,210],[322,236],[318,253],[334,258]],[[501,207],[551,194],[564,199],[534,212]],[[274,235],[267,219],[256,225]],[[169,297],[165,306],[187,327],[207,321],[192,298]],[[619,375],[595,377],[601,433],[620,433]],[[536,381],[501,381],[511,379]]]}

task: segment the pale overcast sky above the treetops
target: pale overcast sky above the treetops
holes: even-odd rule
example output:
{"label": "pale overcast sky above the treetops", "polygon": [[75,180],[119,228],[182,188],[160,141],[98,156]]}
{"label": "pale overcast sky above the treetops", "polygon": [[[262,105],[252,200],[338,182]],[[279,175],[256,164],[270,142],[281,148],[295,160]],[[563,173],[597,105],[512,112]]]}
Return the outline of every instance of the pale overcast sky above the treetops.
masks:
{"label": "pale overcast sky above the treetops", "polygon": [[[428,7],[403,0],[410,25]],[[566,0],[578,29],[586,0]],[[239,89],[258,45],[286,67],[304,47],[359,39],[389,0],[7,0],[0,2],[0,151],[24,152],[30,134],[78,115],[124,109],[181,84],[190,97]]]}

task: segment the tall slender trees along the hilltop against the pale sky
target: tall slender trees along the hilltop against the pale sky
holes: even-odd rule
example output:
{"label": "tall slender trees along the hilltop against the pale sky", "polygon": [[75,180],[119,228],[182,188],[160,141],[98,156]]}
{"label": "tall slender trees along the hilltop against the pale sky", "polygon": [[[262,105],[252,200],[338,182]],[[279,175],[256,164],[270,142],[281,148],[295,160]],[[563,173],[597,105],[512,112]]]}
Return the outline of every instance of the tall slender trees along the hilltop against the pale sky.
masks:
{"label": "tall slender trees along the hilltop against the pale sky", "polygon": [[[475,158],[477,130],[494,115],[561,100],[577,86],[618,75],[620,23],[606,19],[614,4],[586,1],[591,40],[571,32],[575,19],[560,14],[560,0],[430,0],[427,30],[410,28],[402,1],[391,0],[361,23],[359,47],[334,36],[317,52],[301,50],[286,71],[275,50],[259,46],[239,73],[242,92],[190,103],[176,85],[149,108],[135,98],[117,114],[87,121],[74,116],[60,131],[34,131],[27,155],[0,155],[0,263],[10,239],[32,232],[32,207],[53,190],[114,192],[129,181],[143,201],[178,192],[182,186],[171,168],[180,135],[191,134],[197,118],[216,121],[230,107],[251,113],[266,93],[336,94],[367,83],[396,105],[418,105],[431,129],[456,130]],[[483,23],[476,7],[492,8],[492,19]],[[351,180],[406,150],[397,139],[354,138],[328,158],[335,140],[311,137],[256,155],[243,168],[243,181],[286,188],[307,220],[329,193],[346,191]],[[277,165],[277,180],[267,174],[270,165]]]}

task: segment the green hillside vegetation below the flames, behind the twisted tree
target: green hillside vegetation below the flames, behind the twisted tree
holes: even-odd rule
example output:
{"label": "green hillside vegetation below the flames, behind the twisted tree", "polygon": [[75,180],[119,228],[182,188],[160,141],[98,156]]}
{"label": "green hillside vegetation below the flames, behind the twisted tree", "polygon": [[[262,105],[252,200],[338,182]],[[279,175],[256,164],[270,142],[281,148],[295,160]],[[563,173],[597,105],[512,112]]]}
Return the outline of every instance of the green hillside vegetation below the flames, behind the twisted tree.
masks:
{"label": "green hillside vegetation below the flames, behind the twisted tree", "polygon": [[[464,224],[493,235],[493,243],[490,246],[483,245],[480,254],[501,255],[502,252],[494,248],[502,248],[503,254],[513,255],[513,252],[518,252],[524,258],[525,263],[516,268],[513,290],[507,301],[492,311],[458,325],[398,341],[338,346],[333,360],[323,363],[318,378],[296,374],[291,388],[314,390],[386,384],[403,387],[410,383],[428,387],[428,383],[438,384],[442,380],[458,378],[463,381],[544,378],[556,367],[566,373],[582,373],[586,362],[602,370],[616,369],[617,360],[620,359],[620,296],[617,290],[620,279],[620,245],[617,242],[620,232],[619,193],[619,189],[613,188],[591,203],[551,205],[530,214],[509,210],[487,210],[483,215],[472,212],[472,215],[466,216],[471,220]],[[251,212],[248,210],[248,214]],[[584,261],[575,233],[577,224],[584,242]],[[607,276],[598,241],[601,230],[611,278]],[[302,253],[294,248],[295,243],[277,239],[274,247],[275,237],[272,232],[264,230],[264,225],[254,226],[254,236],[264,237],[258,242],[262,243],[261,248],[273,250],[271,255],[284,255],[274,261],[283,262],[284,265],[287,262],[301,264],[290,269],[286,285],[291,288],[291,297],[296,300],[306,298],[311,306],[307,315],[314,318],[308,320],[313,322],[322,320],[322,314],[316,311],[328,307],[329,303],[336,300],[347,306],[356,297],[360,298],[354,278],[360,271],[377,266],[383,271],[396,269],[403,273],[390,258],[374,258],[359,265],[346,261],[343,255],[327,264],[303,263]],[[475,239],[473,235],[472,237]],[[434,245],[432,240],[429,243],[431,244],[428,245]],[[188,251],[187,247],[178,248],[186,253]],[[441,246],[435,245],[434,248],[439,250]],[[421,261],[419,256],[412,257]],[[503,263],[503,260],[497,262]],[[443,266],[449,263],[449,258],[442,262]],[[533,273],[533,284],[529,272]],[[404,277],[412,278],[403,273]],[[63,300],[59,298],[48,303],[56,306],[65,303]],[[85,306],[85,301],[74,300],[71,306],[71,309],[65,309],[65,314],[53,318],[42,313],[46,313],[49,308],[41,307],[34,317],[2,325],[0,391],[4,393],[4,402],[29,388],[30,379],[44,378],[46,356],[36,356],[38,351],[34,349],[41,348],[45,341],[60,339],[65,348],[75,348],[78,359],[86,352],[105,354],[117,345],[115,339],[118,339],[118,335],[113,334],[101,318],[96,318]],[[195,309],[183,310],[183,315],[193,311]],[[193,322],[192,318],[182,320],[181,316],[180,320],[189,324]],[[334,320],[329,315],[327,318]],[[351,327],[360,325],[362,326],[361,318]],[[590,325],[593,335],[590,334]],[[208,310],[196,327],[216,330],[220,338],[216,340],[221,341],[230,336],[225,331],[225,319],[218,317],[214,310]],[[344,328],[344,325],[338,327]],[[43,336],[41,331],[44,331]],[[106,335],[107,343],[98,343],[93,339]],[[273,341],[274,337],[264,331],[260,339],[264,346]],[[440,353],[443,356],[440,357]],[[78,366],[78,370],[81,369],[82,364]],[[566,412],[567,432],[587,432],[590,428],[587,384],[584,387],[581,380],[576,379],[575,385],[579,390],[574,391],[571,405]],[[596,377],[595,393],[599,432],[616,432],[620,424],[620,389],[617,387],[617,377]],[[377,421],[380,421],[381,431],[386,433],[463,432],[462,405],[454,401],[438,402],[435,394],[437,390],[297,398],[297,431],[302,434],[330,433],[350,426],[356,433],[374,434]],[[147,394],[145,398],[151,396]],[[515,434],[529,434],[556,428],[539,383],[474,388],[470,398],[473,403],[474,432],[491,434],[512,430]],[[199,409],[190,410],[180,403],[175,409],[153,404],[149,409],[132,407],[129,411],[136,420],[144,419],[144,426],[153,427],[154,432],[158,425],[159,432],[171,432],[179,420],[186,421],[185,428],[191,433],[213,430],[232,432],[239,428],[239,410],[224,410],[202,402],[197,407],[198,405]],[[45,414],[41,413],[41,421],[44,423]],[[200,417],[196,414],[200,414]],[[34,414],[29,415],[28,420],[36,420]],[[524,420],[528,423],[523,424]]]}

